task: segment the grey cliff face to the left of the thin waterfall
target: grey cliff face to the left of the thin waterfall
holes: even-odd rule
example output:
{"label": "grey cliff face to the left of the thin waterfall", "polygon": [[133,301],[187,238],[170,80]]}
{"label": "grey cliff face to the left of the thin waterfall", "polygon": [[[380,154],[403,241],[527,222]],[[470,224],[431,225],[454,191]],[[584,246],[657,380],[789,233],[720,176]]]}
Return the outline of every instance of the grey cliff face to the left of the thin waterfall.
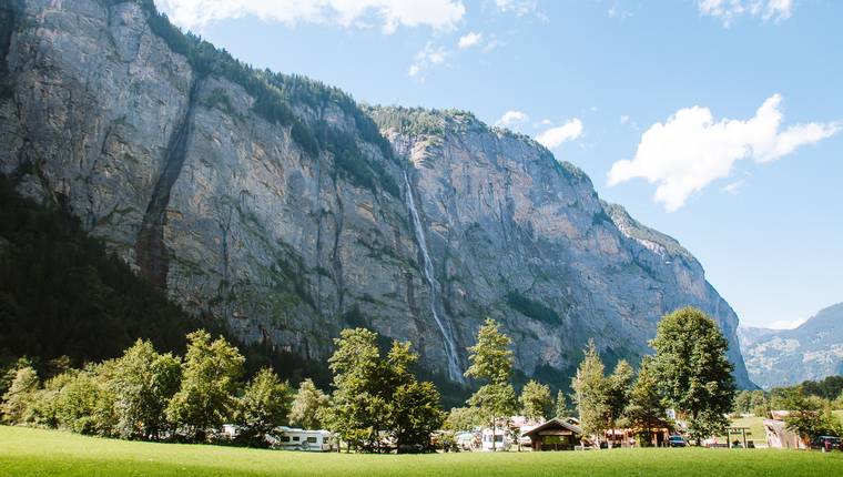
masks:
{"label": "grey cliff face to the left of the thin waterfall", "polygon": [[[248,341],[324,358],[348,325],[437,333],[413,305],[427,288],[399,191],[359,186],[333,152],[305,151],[242,85],[174,53],[135,2],[11,11],[0,165],[21,189],[68,204],[140,273]],[[341,104],[291,110],[400,180]]]}

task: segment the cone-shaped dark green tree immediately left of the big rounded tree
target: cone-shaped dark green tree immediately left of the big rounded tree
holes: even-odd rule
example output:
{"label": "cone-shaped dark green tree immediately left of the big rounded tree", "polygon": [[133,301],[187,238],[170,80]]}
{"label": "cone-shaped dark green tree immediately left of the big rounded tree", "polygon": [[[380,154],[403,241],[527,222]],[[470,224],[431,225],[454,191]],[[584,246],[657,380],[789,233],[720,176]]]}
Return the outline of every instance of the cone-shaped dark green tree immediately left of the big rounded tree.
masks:
{"label": "cone-shaped dark green tree immediately left of the big rounded tree", "polygon": [[638,378],[629,393],[629,405],[623,413],[622,422],[627,427],[634,429],[641,447],[652,444],[652,437],[658,429],[672,427],[649,357],[641,362]]}

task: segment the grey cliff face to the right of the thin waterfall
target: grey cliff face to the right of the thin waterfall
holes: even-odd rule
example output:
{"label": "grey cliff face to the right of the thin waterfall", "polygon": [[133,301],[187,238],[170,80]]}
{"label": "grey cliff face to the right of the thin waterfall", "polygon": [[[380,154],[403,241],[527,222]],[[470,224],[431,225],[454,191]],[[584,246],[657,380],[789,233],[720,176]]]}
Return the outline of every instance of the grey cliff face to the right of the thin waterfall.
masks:
{"label": "grey cliff face to the right of the thin waterfall", "polygon": [[529,138],[461,112],[373,115],[410,162],[443,306],[458,341],[502,322],[528,374],[570,374],[593,337],[610,361],[648,352],[667,312],[720,323],[735,374],[738,317],[674,240],[601,202],[588,176]]}

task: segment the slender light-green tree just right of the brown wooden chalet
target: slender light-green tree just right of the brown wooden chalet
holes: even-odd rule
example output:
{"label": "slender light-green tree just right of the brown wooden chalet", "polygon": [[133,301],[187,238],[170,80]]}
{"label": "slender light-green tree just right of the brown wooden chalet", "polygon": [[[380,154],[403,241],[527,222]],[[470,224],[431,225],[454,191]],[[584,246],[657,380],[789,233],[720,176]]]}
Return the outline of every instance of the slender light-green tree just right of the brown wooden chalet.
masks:
{"label": "slender light-green tree just right of the brown wooden chalet", "polygon": [[585,358],[577,368],[571,388],[573,389],[573,403],[579,413],[580,426],[586,434],[597,438],[599,448],[610,412],[609,380],[606,378],[606,367],[600,359],[593,339],[588,342]]}

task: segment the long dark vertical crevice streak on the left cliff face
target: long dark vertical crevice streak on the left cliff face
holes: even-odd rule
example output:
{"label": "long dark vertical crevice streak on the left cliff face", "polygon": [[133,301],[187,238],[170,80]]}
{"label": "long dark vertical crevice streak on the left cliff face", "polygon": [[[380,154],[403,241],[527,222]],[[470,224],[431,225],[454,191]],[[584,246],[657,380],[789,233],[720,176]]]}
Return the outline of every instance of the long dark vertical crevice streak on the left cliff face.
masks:
{"label": "long dark vertical crevice streak on the left cliff face", "polygon": [[166,275],[170,266],[169,252],[164,244],[166,206],[170,203],[173,184],[181,175],[187,155],[187,144],[193,131],[193,114],[203,80],[204,77],[197,77],[191,83],[184,115],[170,136],[170,142],[164,152],[164,168],[158,182],[155,182],[134,245],[135,260],[141,275],[161,290],[166,288]]}

